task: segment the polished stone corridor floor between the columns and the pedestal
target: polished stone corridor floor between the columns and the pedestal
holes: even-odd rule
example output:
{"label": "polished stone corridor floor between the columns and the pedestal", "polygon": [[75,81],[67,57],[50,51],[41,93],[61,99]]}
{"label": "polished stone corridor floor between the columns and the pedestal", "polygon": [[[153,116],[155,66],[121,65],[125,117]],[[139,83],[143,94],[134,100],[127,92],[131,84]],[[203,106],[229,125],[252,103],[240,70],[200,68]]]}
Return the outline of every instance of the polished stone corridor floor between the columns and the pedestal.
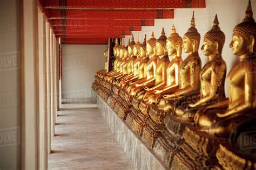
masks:
{"label": "polished stone corridor floor between the columns and the pedestal", "polygon": [[63,104],[49,169],[134,169],[96,104]]}

